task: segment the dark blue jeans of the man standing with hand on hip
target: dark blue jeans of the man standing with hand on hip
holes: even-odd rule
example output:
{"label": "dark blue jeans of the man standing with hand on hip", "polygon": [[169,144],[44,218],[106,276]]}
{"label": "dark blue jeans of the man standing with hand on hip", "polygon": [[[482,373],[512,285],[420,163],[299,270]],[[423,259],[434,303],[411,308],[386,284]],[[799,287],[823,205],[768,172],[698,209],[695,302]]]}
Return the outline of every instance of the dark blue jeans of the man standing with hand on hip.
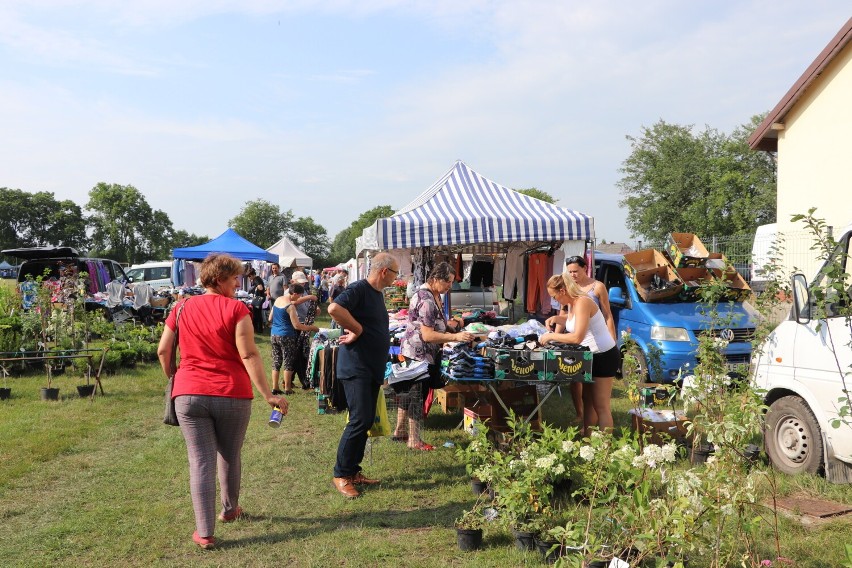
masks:
{"label": "dark blue jeans of the man standing with hand on hip", "polygon": [[376,418],[376,399],[381,384],[371,377],[339,380],[343,383],[346,393],[349,422],[343,429],[337,446],[334,477],[351,477],[361,471],[361,460],[364,459],[364,448],[367,446],[367,432],[373,427]]}

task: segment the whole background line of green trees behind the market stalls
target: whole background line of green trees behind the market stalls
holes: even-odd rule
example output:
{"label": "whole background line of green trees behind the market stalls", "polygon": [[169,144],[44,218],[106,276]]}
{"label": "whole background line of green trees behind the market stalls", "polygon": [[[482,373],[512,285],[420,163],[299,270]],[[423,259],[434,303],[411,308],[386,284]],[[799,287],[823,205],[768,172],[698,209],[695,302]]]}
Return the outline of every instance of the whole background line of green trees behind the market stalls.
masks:
{"label": "whole background line of green trees behind the market stalls", "polygon": [[[762,118],[754,116],[730,134],[710,127],[695,132],[692,125],[660,120],[643,126],[639,136],[627,136],[630,153],[621,164],[617,187],[631,233],[649,241],[672,231],[751,235],[758,225],[775,221],[774,155],[754,152],[747,142]],[[534,187],[517,191],[557,201]],[[137,264],[171,258],[174,248],[210,240],[175,229],[168,214],[153,209],[132,185],[99,183],[82,208],[51,192],[5,187],[0,188],[0,203],[3,249],[65,245],[89,256]],[[373,207],[330,239],[312,217],[297,217],[292,210],[256,199],[246,202],[228,225],[262,248],[288,237],[314,259],[314,266],[331,266],[352,258],[361,232],[393,213],[390,205]]]}

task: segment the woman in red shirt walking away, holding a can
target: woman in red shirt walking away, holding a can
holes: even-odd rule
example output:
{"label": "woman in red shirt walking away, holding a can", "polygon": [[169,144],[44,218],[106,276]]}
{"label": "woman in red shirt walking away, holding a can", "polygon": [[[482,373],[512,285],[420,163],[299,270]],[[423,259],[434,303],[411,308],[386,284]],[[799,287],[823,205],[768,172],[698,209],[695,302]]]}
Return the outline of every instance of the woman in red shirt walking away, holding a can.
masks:
{"label": "woman in red shirt walking away, holding a can", "polygon": [[[172,397],[186,441],[195,510],[192,539],[201,548],[216,546],[217,465],[222,493],[219,520],[230,522],[242,515],[240,456],[251,416],[251,385],[270,406],[279,406],[287,413],[287,400],[269,390],[254,343],[251,312],[234,299],[242,274],[236,258],[227,254],[208,256],[201,265],[201,285],[206,293],[175,306],[157,349],[163,372],[175,377]],[[179,368],[175,363],[176,332]]]}

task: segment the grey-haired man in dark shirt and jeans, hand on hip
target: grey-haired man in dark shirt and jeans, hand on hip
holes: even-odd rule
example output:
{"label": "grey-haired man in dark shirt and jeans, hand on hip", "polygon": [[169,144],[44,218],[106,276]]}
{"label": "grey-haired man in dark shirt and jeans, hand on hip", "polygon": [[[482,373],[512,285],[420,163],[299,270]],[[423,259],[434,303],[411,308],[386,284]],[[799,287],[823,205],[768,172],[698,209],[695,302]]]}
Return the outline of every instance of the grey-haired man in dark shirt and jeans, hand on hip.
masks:
{"label": "grey-haired man in dark shirt and jeans, hand on hip", "polygon": [[388,312],[382,290],[399,273],[399,265],[387,253],[373,258],[370,274],[357,280],[329,305],[328,313],[346,333],[340,337],[337,379],[343,384],[349,422],[337,447],[334,486],[349,498],[358,497],[355,485],[375,485],[361,473],[367,432],[376,416],[376,398],[385,378],[390,347]]}

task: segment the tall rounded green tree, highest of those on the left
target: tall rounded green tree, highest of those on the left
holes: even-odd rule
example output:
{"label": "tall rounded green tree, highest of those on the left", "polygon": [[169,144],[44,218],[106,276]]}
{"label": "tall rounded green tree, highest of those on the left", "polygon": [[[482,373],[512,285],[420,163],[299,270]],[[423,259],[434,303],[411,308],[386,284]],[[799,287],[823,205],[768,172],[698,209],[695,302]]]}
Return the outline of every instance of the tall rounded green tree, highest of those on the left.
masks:
{"label": "tall rounded green tree, highest of those on the left", "polygon": [[[99,183],[89,191],[93,253],[135,264],[168,258],[174,235],[169,216],[153,210],[132,185]],[[166,245],[166,246],[164,246]]]}

